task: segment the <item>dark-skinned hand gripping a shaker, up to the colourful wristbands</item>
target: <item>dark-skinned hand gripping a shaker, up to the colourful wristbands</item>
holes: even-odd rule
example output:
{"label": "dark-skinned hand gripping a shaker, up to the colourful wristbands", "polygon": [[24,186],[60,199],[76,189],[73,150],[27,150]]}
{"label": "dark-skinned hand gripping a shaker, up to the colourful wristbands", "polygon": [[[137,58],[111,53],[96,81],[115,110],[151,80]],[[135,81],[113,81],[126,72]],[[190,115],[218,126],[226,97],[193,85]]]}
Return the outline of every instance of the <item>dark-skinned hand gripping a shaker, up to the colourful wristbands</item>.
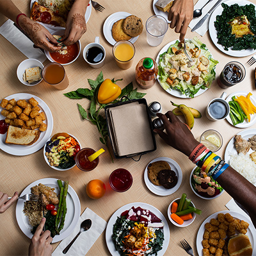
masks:
{"label": "dark-skinned hand gripping a shaker, up to the colourful wristbands", "polygon": [[154,131],[167,144],[189,156],[199,142],[193,137],[188,126],[181,122],[171,111],[168,111],[165,115],[160,113],[157,115],[162,119],[166,133],[159,129],[154,129]]}

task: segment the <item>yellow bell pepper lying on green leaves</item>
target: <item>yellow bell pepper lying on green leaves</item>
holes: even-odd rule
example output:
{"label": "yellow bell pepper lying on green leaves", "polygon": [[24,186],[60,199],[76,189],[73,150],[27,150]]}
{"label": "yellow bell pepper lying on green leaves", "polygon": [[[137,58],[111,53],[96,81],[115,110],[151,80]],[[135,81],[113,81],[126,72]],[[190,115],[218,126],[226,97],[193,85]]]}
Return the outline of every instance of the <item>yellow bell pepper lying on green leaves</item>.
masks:
{"label": "yellow bell pepper lying on green leaves", "polygon": [[114,101],[120,94],[121,88],[114,84],[110,79],[105,79],[100,89],[98,89],[98,102],[100,104],[107,104]]}

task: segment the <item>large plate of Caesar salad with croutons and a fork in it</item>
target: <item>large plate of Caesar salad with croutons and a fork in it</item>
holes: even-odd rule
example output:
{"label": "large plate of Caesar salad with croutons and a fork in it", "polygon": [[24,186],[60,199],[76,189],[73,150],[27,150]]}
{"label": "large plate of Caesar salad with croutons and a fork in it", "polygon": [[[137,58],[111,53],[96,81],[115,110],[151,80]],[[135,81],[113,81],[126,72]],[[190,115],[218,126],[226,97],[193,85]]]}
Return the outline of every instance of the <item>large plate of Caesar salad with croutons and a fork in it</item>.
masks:
{"label": "large plate of Caesar salad with croutons and a fork in it", "polygon": [[174,40],[158,53],[158,82],[166,92],[178,98],[193,98],[204,93],[215,79],[214,60],[207,46],[197,37],[185,39],[187,52],[193,63],[185,56],[184,43]]}

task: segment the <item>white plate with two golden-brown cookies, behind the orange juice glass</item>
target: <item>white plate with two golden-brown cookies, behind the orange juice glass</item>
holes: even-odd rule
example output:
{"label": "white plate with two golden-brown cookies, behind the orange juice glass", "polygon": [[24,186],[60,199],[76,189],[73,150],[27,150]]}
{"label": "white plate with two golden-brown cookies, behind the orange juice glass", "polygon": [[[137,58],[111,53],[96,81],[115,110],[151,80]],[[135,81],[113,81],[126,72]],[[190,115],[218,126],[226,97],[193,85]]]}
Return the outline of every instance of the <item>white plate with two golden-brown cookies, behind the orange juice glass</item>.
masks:
{"label": "white plate with two golden-brown cookies, behind the orange juice glass", "polygon": [[103,25],[103,34],[112,46],[120,40],[129,40],[131,43],[135,43],[142,30],[142,20],[125,11],[108,16]]}

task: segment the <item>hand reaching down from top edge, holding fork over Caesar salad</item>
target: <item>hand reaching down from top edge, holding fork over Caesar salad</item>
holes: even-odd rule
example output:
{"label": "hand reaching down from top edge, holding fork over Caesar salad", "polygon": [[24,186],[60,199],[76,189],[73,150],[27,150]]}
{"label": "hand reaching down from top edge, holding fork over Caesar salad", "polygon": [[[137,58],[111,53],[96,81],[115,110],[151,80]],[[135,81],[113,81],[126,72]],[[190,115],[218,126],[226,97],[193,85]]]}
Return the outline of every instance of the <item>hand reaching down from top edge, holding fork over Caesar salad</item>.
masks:
{"label": "hand reaching down from top edge, holding fork over Caesar salad", "polygon": [[170,27],[180,33],[180,41],[185,38],[188,24],[193,19],[193,0],[175,0],[169,11]]}

